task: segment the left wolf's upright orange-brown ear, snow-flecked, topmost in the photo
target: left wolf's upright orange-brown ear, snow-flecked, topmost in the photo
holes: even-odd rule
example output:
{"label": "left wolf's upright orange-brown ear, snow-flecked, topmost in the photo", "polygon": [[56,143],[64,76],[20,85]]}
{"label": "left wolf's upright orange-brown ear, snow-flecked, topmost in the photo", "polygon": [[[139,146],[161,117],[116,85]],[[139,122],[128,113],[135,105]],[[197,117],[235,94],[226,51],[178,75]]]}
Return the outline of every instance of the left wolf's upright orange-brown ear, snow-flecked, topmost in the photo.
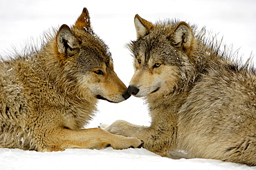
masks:
{"label": "left wolf's upright orange-brown ear, snow-flecked, topmost in the photo", "polygon": [[82,14],[80,15],[80,17],[78,17],[74,27],[79,29],[84,29],[86,31],[91,30],[89,12],[86,8],[82,10]]}

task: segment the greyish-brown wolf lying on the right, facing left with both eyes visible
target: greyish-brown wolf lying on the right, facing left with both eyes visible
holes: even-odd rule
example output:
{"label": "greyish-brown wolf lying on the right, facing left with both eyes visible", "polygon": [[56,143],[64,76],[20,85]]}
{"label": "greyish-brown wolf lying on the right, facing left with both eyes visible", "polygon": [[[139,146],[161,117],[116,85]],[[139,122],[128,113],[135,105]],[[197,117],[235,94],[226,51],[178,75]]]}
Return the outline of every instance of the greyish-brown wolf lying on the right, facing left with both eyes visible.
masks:
{"label": "greyish-brown wolf lying on the right, facing left with both eyes visible", "polygon": [[144,97],[149,127],[116,120],[106,131],[143,140],[169,158],[256,165],[256,73],[206,36],[205,28],[134,18],[129,94]]}

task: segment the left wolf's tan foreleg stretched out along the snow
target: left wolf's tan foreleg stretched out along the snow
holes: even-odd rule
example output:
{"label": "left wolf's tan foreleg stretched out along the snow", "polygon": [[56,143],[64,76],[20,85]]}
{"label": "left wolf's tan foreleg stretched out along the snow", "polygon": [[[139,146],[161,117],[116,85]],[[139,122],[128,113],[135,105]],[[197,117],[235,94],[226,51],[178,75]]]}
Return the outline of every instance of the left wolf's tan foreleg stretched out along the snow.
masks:
{"label": "left wolf's tan foreleg stretched out along the snow", "polygon": [[68,148],[102,149],[127,149],[129,147],[141,147],[143,142],[137,138],[126,138],[115,134],[109,134],[99,128],[94,129],[55,129],[46,134],[46,147],[39,147],[38,151],[63,151]]}

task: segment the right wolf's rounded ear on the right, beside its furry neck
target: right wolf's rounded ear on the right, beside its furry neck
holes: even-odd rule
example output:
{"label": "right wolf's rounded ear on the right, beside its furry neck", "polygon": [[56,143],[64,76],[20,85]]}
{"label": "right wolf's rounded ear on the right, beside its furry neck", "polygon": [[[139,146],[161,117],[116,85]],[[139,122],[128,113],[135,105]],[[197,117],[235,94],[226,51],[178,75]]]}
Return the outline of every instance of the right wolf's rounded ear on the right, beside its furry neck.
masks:
{"label": "right wolf's rounded ear on the right, beside its furry neck", "polygon": [[190,25],[185,22],[180,22],[170,34],[169,39],[175,47],[183,47],[188,50],[192,43],[192,30]]}

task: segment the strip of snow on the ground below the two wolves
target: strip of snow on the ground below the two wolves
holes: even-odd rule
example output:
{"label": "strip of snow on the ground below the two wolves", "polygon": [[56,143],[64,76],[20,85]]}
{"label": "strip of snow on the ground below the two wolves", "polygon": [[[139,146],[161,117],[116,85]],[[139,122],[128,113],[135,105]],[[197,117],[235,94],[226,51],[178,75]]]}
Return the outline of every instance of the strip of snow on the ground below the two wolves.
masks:
{"label": "strip of snow on the ground below the two wolves", "polygon": [[0,150],[1,169],[253,169],[244,164],[220,160],[171,160],[146,149],[66,149],[44,152],[19,149]]}

